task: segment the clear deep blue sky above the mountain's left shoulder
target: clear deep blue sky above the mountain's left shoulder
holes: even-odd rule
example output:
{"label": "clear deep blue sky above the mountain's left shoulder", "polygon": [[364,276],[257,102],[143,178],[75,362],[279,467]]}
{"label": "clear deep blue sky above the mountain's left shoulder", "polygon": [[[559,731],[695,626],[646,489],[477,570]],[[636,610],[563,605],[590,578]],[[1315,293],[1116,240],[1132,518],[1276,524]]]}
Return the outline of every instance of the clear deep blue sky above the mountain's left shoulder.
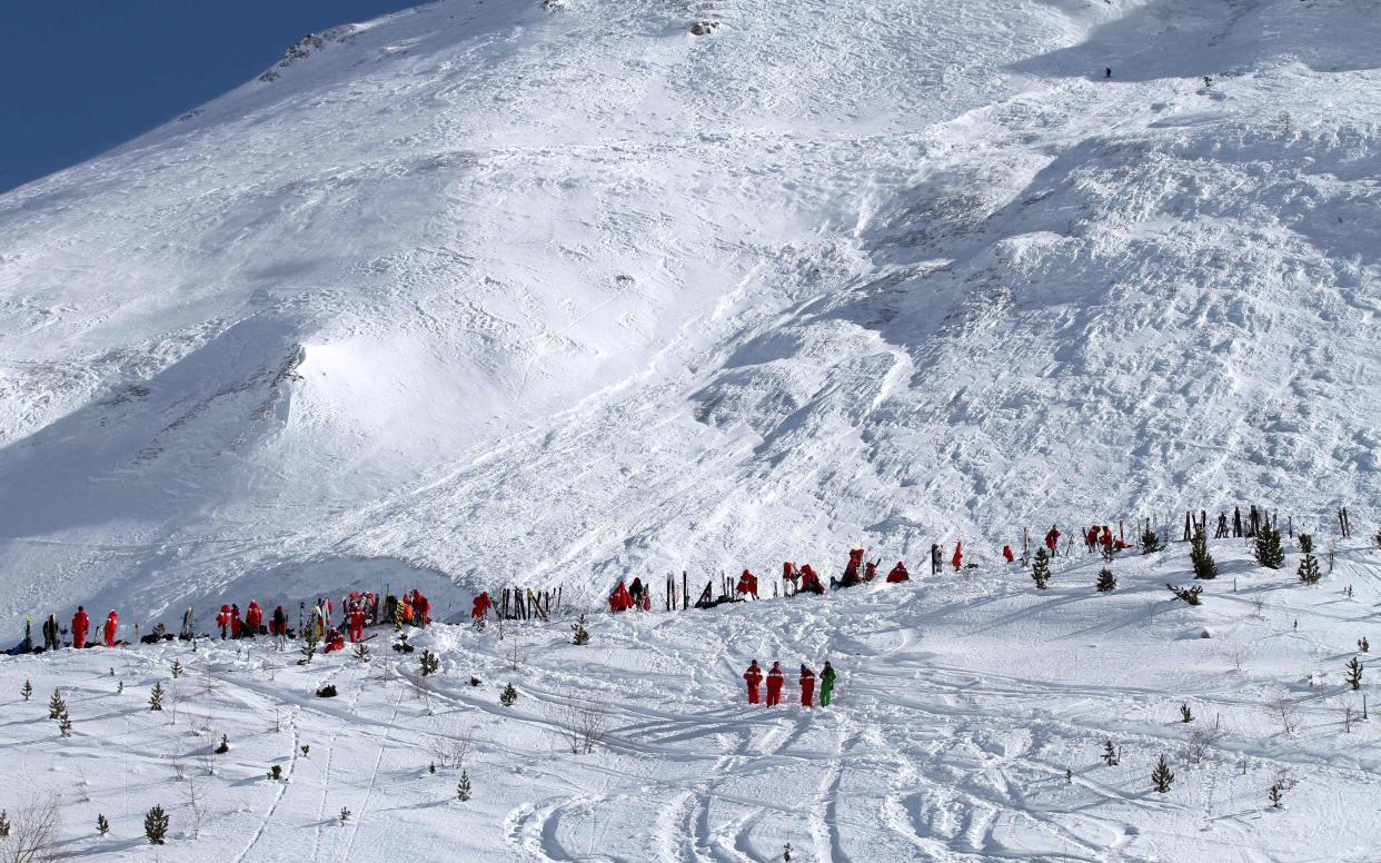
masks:
{"label": "clear deep blue sky above the mountain's left shoulder", "polygon": [[0,192],[267,69],[312,30],[421,0],[0,0]]}

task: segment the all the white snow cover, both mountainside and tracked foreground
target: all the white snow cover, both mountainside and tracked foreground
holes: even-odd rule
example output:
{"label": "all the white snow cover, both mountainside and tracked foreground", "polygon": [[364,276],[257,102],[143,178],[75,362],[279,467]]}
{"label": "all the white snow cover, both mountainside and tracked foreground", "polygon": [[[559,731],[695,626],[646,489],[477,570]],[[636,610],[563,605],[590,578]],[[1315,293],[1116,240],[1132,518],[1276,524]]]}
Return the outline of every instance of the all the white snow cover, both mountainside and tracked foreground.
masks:
{"label": "all the white snow cover, both mountainside and tracked foreground", "polygon": [[[384,584],[456,620],[501,584],[594,609],[849,547],[976,569],[597,614],[588,648],[565,616],[443,626],[425,688],[388,638],[6,659],[0,806],[61,791],[87,859],[1381,856],[1375,743],[1341,728],[1381,601],[1381,1],[545,6],[312,35],[0,196],[6,646],[77,603],[204,631]],[[1313,590],[1293,543],[1280,572],[1217,543],[1200,608],[1164,588],[1184,545],[1112,595],[1095,558],[1037,592],[996,554],[1239,503],[1320,548],[1348,505],[1358,536]],[[831,659],[838,706],[749,710],[754,657]],[[573,693],[609,717],[588,755],[554,733]],[[196,824],[174,761],[220,733]],[[471,736],[453,802],[425,768]]]}

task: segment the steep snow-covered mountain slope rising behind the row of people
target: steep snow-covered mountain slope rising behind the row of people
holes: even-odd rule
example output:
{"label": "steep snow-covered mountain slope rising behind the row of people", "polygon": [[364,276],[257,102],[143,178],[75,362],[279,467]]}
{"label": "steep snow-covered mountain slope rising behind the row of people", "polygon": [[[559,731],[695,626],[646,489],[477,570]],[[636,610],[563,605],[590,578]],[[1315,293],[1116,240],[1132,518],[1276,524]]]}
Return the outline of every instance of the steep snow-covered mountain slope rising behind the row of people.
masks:
{"label": "steep snow-covered mountain slope rising behind the row of people", "polygon": [[1364,512],[1378,36],[450,0],[307,40],[0,197],[0,610]]}

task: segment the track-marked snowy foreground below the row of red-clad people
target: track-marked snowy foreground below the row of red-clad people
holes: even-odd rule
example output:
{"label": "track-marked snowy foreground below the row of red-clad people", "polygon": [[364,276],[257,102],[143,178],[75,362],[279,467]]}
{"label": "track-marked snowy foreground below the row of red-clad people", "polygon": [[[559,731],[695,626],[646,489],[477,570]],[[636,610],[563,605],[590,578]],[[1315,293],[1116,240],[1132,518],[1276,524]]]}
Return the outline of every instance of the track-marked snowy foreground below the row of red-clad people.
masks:
{"label": "track-marked snowy foreground below the row of red-clad people", "polygon": [[[1320,543],[1308,587],[1288,539],[1282,569],[1208,551],[1213,580],[1175,543],[1058,556],[1044,590],[591,610],[583,646],[568,612],[305,664],[264,638],[6,657],[0,853],[50,804],[93,860],[1374,860],[1381,552]],[[751,660],[787,670],[780,707],[744,703]],[[824,660],[834,704],[801,707]]]}

